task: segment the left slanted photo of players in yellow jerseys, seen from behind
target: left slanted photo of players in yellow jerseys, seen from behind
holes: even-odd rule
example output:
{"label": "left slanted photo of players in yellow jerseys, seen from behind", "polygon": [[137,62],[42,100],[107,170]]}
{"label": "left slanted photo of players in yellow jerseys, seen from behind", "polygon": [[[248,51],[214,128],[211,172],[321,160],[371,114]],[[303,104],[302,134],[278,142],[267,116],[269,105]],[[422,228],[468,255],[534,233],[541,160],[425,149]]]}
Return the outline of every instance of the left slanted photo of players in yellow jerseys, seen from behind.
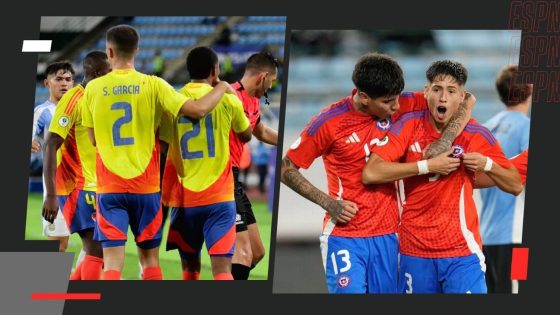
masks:
{"label": "left slanted photo of players in yellow jerseys, seen from behind", "polygon": [[42,17],[26,239],[73,252],[71,280],[267,280],[285,32]]}

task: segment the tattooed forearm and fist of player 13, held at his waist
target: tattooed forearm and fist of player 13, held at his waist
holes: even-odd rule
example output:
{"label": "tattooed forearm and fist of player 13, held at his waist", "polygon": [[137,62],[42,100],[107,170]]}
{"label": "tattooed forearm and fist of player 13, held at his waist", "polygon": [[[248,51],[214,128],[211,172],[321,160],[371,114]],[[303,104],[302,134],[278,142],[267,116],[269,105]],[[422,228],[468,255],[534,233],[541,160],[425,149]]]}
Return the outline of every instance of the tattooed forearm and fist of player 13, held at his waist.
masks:
{"label": "tattooed forearm and fist of player 13, held at his waist", "polygon": [[288,157],[284,157],[282,160],[280,180],[293,191],[321,206],[339,223],[348,223],[358,211],[355,203],[347,200],[335,200],[313,186]]}

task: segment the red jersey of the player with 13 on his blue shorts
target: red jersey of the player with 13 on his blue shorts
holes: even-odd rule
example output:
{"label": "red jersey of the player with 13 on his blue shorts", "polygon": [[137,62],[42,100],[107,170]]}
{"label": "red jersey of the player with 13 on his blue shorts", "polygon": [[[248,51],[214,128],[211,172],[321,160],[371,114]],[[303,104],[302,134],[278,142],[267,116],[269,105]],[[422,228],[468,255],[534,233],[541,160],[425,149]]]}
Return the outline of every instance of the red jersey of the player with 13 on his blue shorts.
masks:
{"label": "red jersey of the player with 13 on his blue shorts", "polygon": [[[395,184],[364,185],[362,169],[369,156],[369,148],[384,143],[391,127],[390,119],[378,120],[356,111],[352,95],[323,109],[301,133],[286,153],[298,167],[308,168],[313,161],[323,157],[327,173],[329,195],[358,205],[358,213],[346,224],[334,225],[326,213],[323,233],[344,237],[371,237],[394,233],[397,230],[399,211]],[[421,96],[421,97],[420,97]],[[421,94],[405,93],[399,100],[401,112],[419,106],[425,108]]]}

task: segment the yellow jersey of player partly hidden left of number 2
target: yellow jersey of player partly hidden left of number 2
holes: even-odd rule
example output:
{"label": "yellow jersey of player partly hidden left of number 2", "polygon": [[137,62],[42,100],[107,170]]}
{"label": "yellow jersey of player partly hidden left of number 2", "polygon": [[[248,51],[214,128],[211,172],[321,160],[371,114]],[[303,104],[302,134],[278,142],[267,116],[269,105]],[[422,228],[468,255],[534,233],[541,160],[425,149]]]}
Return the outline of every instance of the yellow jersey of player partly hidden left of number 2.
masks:
{"label": "yellow jersey of player partly hidden left of number 2", "polygon": [[78,84],[58,102],[49,131],[64,139],[57,151],[56,194],[66,196],[73,189],[95,191],[95,148],[82,126],[81,99],[84,88]]}

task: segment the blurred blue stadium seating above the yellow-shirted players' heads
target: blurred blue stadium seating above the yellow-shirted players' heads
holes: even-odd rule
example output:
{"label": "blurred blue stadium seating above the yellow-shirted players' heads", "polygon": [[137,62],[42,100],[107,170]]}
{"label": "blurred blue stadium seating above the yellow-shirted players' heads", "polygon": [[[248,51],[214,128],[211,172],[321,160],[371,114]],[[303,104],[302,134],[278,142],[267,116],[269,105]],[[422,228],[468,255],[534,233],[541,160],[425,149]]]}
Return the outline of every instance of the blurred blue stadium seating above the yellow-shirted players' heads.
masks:
{"label": "blurred blue stadium seating above the yellow-shirted players' heads", "polygon": [[[109,18],[106,18],[106,20]],[[103,19],[96,20],[103,23]],[[189,48],[195,45],[211,45],[220,53],[220,59],[227,56],[231,59],[234,70],[243,68],[247,57],[263,49],[270,50],[278,58],[284,55],[284,40],[286,38],[286,17],[284,16],[139,16],[133,18],[112,18],[110,27],[119,23],[127,23],[138,29],[140,52],[136,58],[136,68],[144,72],[151,72],[151,60],[157,50],[161,50],[163,58],[169,67],[166,68],[164,78],[174,85],[183,84],[188,78],[181,71],[184,70],[184,57]],[[64,31],[65,25],[73,22],[59,22]],[[57,31],[56,28],[53,29]],[[92,31],[93,30],[93,31]],[[225,34],[225,35],[224,35]],[[89,45],[68,52],[68,59],[78,70],[76,81],[81,81],[81,69],[78,67],[84,56],[91,50],[105,49],[104,31],[90,28],[79,33],[79,37],[88,38]],[[223,36],[227,39],[223,41]],[[93,38],[94,37],[94,38]],[[86,42],[86,40],[84,40]],[[45,61],[38,65],[37,86],[35,90],[35,105],[48,97],[40,73],[46,66]],[[279,95],[272,93],[272,98],[279,100]]]}

